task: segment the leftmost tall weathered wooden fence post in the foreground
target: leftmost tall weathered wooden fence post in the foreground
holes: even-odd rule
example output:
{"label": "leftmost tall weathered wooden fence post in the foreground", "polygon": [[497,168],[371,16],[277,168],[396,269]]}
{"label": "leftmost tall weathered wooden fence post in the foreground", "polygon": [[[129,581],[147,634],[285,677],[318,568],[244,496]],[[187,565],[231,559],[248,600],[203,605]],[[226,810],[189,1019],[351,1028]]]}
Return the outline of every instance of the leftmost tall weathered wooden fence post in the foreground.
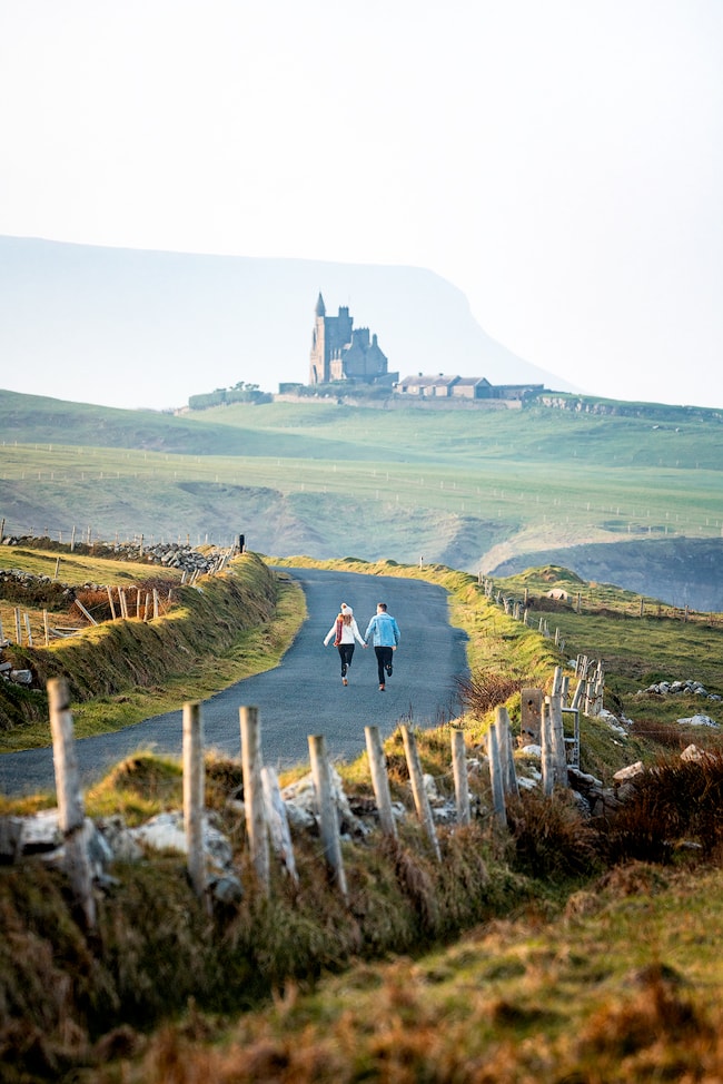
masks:
{"label": "leftmost tall weathered wooden fence post in the foreground", "polygon": [[89,929],[96,926],[96,900],[86,838],[86,814],[73,740],[70,693],[65,678],[48,681],[50,730],[58,795],[58,827],[66,848],[66,871]]}

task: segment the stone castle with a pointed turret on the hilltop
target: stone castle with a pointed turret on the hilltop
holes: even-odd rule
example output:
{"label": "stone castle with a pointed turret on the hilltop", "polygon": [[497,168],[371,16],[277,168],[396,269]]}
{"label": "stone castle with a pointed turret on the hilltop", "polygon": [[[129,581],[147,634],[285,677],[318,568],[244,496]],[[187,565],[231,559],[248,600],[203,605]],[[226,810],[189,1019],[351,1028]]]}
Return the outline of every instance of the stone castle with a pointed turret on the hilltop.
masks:
{"label": "stone castle with a pointed turret on the hilltop", "polygon": [[349,309],[339,307],[338,316],[327,316],[319,294],[314,319],[309,384],[333,381],[358,381],[363,384],[388,384],[399,380],[387,372],[387,357],[376,335],[369,339],[368,327],[354,327]]}

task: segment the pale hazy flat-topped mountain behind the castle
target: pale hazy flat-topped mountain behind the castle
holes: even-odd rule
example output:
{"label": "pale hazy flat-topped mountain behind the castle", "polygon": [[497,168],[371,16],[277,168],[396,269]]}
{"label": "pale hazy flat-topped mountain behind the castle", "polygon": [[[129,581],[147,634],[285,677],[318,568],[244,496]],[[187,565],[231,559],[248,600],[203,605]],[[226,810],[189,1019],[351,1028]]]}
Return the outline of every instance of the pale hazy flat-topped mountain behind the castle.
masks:
{"label": "pale hazy flat-topped mountain behind the castle", "polygon": [[418,267],[256,259],[0,237],[0,385],[109,406],[182,406],[239,381],[306,383],[319,295],[372,327],[400,375],[572,390],[491,338]]}

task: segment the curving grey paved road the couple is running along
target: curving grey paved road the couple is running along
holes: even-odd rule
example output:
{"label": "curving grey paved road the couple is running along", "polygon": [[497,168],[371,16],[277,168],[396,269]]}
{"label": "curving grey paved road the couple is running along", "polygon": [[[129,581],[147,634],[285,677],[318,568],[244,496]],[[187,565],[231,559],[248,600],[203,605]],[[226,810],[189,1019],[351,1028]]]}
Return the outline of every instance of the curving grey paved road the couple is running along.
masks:
{"label": "curving grey paved road the couple is running along", "polygon": [[[258,707],[266,763],[278,768],[308,762],[308,735],[323,733],[333,758],[353,759],[365,748],[364,728],[384,736],[397,722],[436,726],[456,713],[456,678],[466,672],[465,634],[447,621],[443,588],[417,580],[361,575],[317,569],[287,569],[304,588],[308,618],[281,664],[247,678],[202,704],[204,738],[209,748],[240,756],[239,707]],[[402,631],[394,653],[394,674],[386,692],[378,690],[373,648],[358,644],[341,684],[336,648],[324,648],[339,604],[347,602],[364,635],[386,602]],[[116,733],[76,742],[83,782],[139,749],[180,755],[181,711],[156,716]],[[50,749],[0,756],[0,790],[20,795],[55,788]]]}

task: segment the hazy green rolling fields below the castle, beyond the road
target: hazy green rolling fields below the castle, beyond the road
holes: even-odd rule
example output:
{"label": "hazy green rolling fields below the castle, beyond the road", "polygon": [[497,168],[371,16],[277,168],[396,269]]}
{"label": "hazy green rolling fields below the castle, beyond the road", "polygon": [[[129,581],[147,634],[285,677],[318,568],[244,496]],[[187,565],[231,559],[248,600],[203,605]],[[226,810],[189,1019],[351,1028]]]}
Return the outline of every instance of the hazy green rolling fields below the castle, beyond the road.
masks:
{"label": "hazy green rolling fields below the castle, beyond the road", "polygon": [[174,417],[8,396],[6,533],[75,525],[224,544],[242,532],[263,552],[424,554],[475,570],[549,546],[723,530],[715,415],[274,403]]}

